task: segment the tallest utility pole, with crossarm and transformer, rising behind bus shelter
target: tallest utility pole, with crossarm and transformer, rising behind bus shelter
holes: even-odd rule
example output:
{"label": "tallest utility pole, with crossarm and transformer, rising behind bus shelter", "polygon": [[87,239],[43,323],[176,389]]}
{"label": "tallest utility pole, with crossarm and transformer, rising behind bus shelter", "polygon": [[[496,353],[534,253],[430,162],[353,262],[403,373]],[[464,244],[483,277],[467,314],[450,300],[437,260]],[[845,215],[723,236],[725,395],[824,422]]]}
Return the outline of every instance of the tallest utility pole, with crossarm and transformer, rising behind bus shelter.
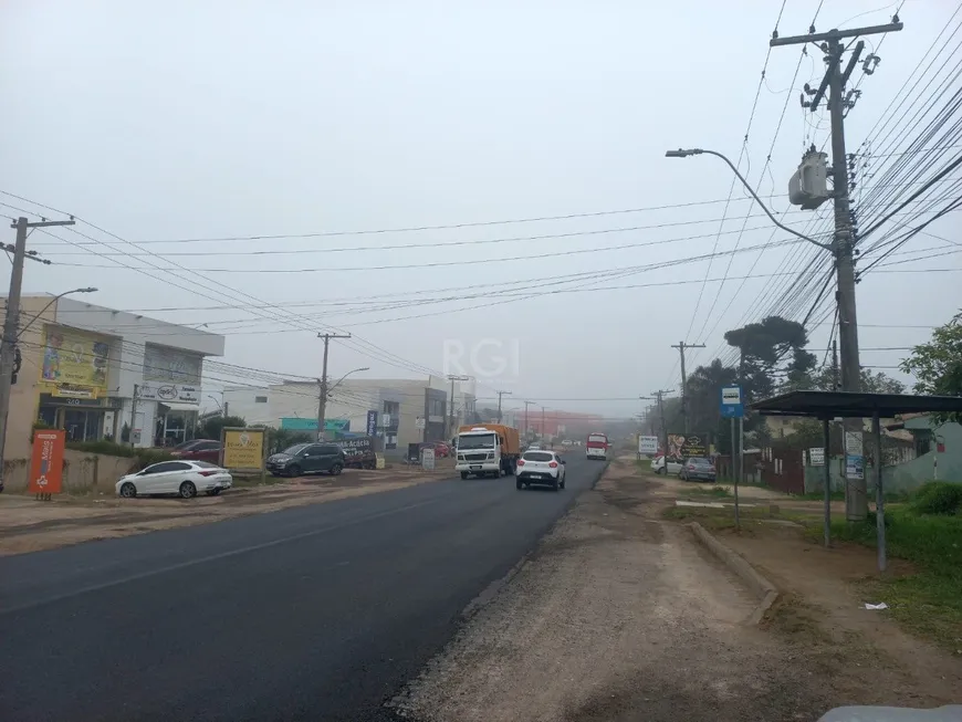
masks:
{"label": "tallest utility pole, with crossarm and transformer, rising behind bus shelter", "polygon": [[[818,109],[818,104],[828,92],[828,113],[832,119],[832,198],[835,210],[835,237],[832,243],[832,252],[835,255],[836,272],[836,303],[838,305],[838,339],[841,345],[841,390],[858,393],[860,390],[861,366],[858,354],[858,315],[855,303],[855,243],[856,239],[851,226],[851,207],[848,187],[848,158],[845,153],[845,116],[846,112],[855,106],[859,91],[853,90],[847,95],[845,85],[858,63],[865,42],[859,41],[851,51],[848,64],[843,70],[841,61],[846,45],[843,42],[849,38],[861,35],[877,35],[889,32],[898,32],[902,29],[898,14],[892,15],[891,23],[887,25],[872,25],[869,28],[854,28],[851,30],[829,30],[824,33],[812,32],[807,35],[792,38],[773,36],[770,46],[802,45],[807,43],[822,43],[825,53],[825,76],[818,90],[805,86],[811,101],[802,96],[803,107],[812,113]],[[875,64],[872,64],[875,63]],[[869,54],[864,62],[864,71],[871,73],[878,64],[878,56]],[[871,66],[871,70],[869,70]],[[847,419],[845,422],[846,448],[849,435],[861,436],[861,419]],[[859,444],[861,446],[861,444]],[[825,460],[828,463],[828,459]],[[847,467],[847,464],[846,464]],[[868,485],[862,473],[861,479],[846,479],[845,485],[845,512],[849,521],[859,521],[868,513]]]}

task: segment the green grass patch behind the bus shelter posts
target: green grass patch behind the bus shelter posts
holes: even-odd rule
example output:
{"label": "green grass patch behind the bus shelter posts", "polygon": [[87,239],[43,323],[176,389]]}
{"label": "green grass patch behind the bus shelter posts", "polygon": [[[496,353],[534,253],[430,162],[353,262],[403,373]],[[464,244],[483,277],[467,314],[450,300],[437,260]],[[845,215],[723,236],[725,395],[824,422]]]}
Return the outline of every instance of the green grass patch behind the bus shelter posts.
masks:
{"label": "green grass patch behind the bus shelter posts", "polygon": [[[917,494],[906,506],[886,514],[888,555],[911,562],[918,573],[874,577],[861,587],[867,601],[885,601],[893,619],[954,652],[962,649],[962,516],[917,513],[924,503]],[[836,540],[877,545],[874,519],[835,522],[832,534]]]}

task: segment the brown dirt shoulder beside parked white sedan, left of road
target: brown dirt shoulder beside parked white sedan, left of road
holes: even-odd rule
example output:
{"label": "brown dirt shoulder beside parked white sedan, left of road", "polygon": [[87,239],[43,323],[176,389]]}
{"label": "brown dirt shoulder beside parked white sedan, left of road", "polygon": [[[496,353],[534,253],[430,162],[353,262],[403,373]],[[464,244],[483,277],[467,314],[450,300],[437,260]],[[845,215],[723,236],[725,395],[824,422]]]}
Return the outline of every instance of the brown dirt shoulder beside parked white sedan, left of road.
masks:
{"label": "brown dirt shoulder beside parked white sedan, left of road", "polygon": [[449,469],[433,472],[348,469],[339,477],[302,477],[271,480],[263,485],[241,484],[219,496],[190,500],[62,495],[51,502],[39,502],[29,495],[4,493],[0,494],[0,556],[208,524],[450,478]]}

